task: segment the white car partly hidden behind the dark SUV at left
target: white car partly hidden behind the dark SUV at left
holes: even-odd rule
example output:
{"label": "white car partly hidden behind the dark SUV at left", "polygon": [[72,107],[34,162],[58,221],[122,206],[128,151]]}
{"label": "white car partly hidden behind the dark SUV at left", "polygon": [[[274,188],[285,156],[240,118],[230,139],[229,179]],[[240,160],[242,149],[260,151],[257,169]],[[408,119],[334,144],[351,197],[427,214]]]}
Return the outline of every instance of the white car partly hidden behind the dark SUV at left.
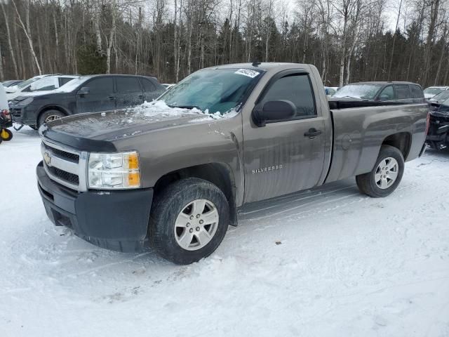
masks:
{"label": "white car partly hidden behind the dark SUV at left", "polygon": [[76,79],[76,77],[73,75],[41,75],[32,77],[18,84],[18,86],[6,88],[6,98],[9,102],[24,93],[55,90],[67,82],[72,81],[72,79]]}

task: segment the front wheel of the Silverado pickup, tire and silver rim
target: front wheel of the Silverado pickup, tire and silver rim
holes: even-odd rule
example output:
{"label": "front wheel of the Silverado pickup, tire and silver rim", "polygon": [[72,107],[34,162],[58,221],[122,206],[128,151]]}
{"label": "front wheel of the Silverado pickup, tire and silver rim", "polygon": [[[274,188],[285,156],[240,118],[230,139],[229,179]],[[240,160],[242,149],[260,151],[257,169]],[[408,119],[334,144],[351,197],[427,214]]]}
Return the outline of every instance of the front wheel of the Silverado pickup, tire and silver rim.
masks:
{"label": "front wheel of the Silverado pickup, tire and silver rim", "polygon": [[[196,212],[194,207],[201,209],[203,201],[206,206]],[[213,253],[225,237],[228,225],[229,204],[225,194],[207,180],[187,178],[168,185],[155,197],[149,218],[149,240],[163,258],[187,265]],[[207,243],[202,245],[201,238]]]}

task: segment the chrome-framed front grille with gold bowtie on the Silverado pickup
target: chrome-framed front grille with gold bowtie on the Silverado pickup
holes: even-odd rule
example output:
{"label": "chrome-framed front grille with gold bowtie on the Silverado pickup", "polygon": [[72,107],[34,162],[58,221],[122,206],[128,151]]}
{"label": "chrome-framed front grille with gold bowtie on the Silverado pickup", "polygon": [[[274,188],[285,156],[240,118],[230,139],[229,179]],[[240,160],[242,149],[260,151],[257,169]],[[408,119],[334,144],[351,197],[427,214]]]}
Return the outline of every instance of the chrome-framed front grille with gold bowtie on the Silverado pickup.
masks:
{"label": "chrome-framed front grille with gold bowtie on the Silverado pickup", "polygon": [[77,191],[86,191],[87,152],[42,140],[43,168],[57,183]]}

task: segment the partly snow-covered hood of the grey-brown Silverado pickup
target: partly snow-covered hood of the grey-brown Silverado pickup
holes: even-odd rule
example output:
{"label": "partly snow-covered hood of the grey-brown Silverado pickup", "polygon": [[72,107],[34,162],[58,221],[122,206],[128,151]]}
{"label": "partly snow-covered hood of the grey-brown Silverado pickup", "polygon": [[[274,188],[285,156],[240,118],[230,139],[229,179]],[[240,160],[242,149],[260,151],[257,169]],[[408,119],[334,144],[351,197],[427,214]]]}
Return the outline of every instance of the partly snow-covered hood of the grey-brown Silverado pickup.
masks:
{"label": "partly snow-covered hood of the grey-brown Silverado pickup", "polygon": [[208,114],[198,109],[168,107],[161,101],[144,103],[126,110],[75,114],[44,124],[41,136],[79,150],[101,148],[114,151],[114,140],[138,136],[181,124],[193,124],[232,116],[234,113]]}

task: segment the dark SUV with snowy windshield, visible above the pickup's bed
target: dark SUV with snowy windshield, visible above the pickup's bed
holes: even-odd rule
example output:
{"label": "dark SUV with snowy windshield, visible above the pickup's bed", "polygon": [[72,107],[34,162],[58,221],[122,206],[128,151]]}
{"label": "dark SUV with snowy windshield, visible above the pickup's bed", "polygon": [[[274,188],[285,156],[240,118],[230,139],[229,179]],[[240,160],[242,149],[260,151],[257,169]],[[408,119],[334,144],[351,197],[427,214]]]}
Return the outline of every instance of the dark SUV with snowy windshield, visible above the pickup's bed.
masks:
{"label": "dark SUV with snowy windshield, visible above the pickup's bed", "polygon": [[424,92],[419,84],[410,82],[359,82],[343,86],[333,95],[333,98],[424,103]]}

